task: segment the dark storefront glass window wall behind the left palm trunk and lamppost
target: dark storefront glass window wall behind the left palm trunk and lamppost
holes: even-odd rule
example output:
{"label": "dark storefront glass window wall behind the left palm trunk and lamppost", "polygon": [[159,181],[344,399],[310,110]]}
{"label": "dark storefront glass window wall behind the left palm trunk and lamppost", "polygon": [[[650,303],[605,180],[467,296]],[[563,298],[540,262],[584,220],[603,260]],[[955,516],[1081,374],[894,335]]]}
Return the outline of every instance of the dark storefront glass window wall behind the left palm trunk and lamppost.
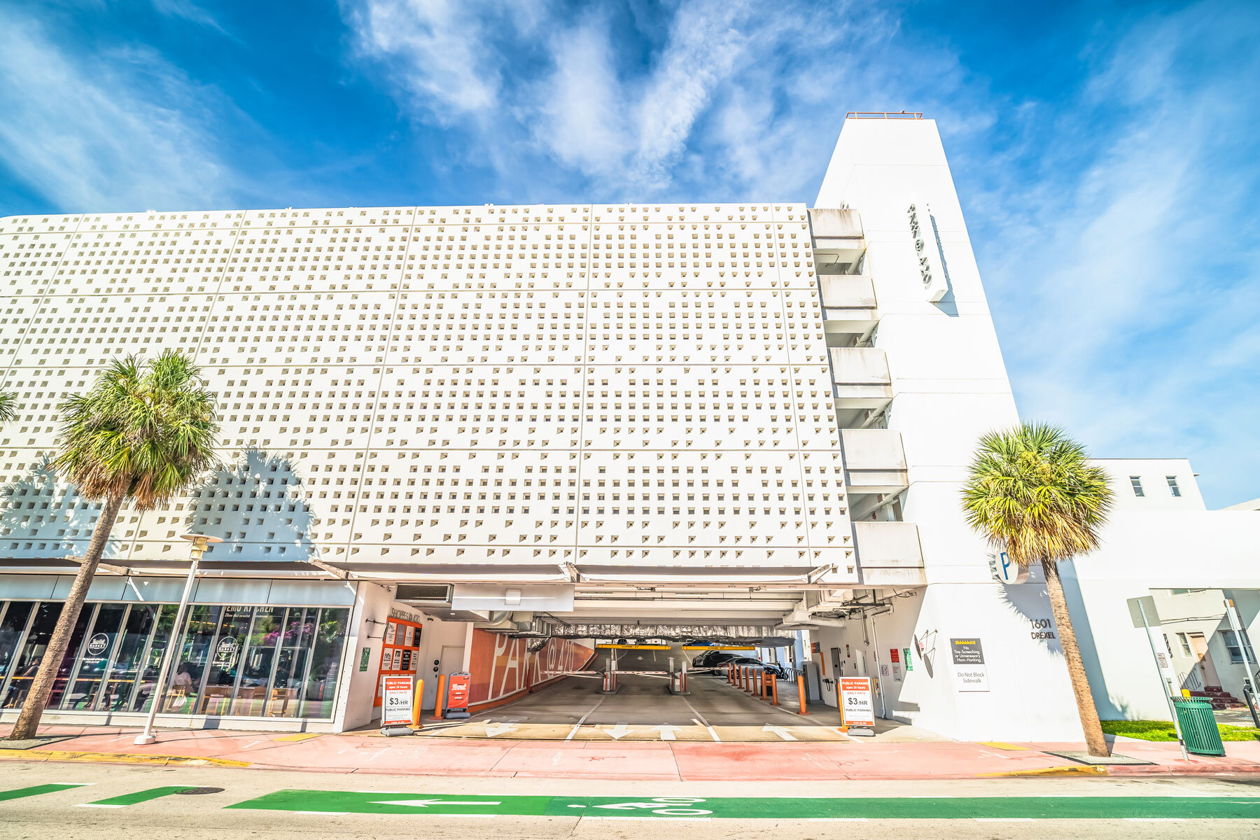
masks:
{"label": "dark storefront glass window wall behind the left palm trunk and lamppost", "polygon": [[[0,602],[4,708],[21,705],[60,602]],[[175,604],[88,603],[49,708],[146,712],[173,639]],[[178,639],[164,714],[333,717],[349,610],[195,604]],[[6,684],[8,680],[8,684]]]}

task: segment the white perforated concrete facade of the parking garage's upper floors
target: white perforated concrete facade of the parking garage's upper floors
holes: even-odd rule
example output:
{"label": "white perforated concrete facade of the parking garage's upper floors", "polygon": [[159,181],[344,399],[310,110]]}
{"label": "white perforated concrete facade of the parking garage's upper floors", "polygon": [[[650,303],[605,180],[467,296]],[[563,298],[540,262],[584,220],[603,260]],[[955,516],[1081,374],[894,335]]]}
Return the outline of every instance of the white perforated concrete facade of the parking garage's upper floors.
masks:
{"label": "white perforated concrete facade of the parking garage's upper floors", "polygon": [[125,510],[113,560],[181,559],[192,526],[415,579],[857,579],[801,205],[10,217],[0,290],[5,557],[91,535],[39,471],[58,400],[178,348],[227,468],[192,520]]}

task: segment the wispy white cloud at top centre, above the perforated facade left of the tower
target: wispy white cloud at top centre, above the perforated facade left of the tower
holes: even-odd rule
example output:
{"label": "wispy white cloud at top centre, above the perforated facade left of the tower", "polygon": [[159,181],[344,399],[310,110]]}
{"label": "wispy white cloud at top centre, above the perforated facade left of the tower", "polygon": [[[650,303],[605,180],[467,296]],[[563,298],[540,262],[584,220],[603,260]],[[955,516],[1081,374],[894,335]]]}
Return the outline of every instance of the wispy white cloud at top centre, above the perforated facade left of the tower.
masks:
{"label": "wispy white cloud at top centre, above the perforated facade left of the tower", "polygon": [[598,198],[694,191],[716,176],[727,198],[766,184],[803,194],[825,166],[847,74],[872,94],[905,94],[886,83],[900,73],[847,57],[896,31],[856,4],[765,15],[743,0],[684,1],[664,21],[636,21],[651,31],[600,6],[510,8],[505,21],[499,4],[348,0],[343,16],[357,58],[383,71],[403,110],[465,128],[469,157],[510,175],[515,198],[533,189],[529,173],[548,183],[556,166],[591,179]]}

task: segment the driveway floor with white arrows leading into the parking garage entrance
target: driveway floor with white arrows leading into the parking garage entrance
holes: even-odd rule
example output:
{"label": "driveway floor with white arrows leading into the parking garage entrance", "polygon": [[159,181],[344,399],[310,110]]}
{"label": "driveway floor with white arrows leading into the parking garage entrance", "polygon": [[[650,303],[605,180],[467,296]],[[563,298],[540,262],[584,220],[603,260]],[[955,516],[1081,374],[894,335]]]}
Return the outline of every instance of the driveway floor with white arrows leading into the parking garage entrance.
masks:
{"label": "driveway floor with white arrows leading into the parking garage entrance", "polygon": [[[514,703],[460,722],[426,725],[435,738],[539,741],[848,741],[835,709],[809,705],[796,714],[798,693],[780,680],[779,705],[727,683],[726,669],[688,673],[687,694],[670,691],[670,670],[698,651],[680,644],[597,649],[582,674],[571,675]],[[736,651],[742,652],[742,651]],[[609,660],[616,657],[616,691],[604,693]],[[673,660],[673,662],[670,662]],[[791,683],[785,685],[784,683]]]}

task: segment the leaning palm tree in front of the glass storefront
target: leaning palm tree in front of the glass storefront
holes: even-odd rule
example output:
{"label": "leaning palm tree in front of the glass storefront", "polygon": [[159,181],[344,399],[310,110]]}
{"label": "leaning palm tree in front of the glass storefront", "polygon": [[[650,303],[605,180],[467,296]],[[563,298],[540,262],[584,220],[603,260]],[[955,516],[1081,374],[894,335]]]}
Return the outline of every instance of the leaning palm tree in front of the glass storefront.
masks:
{"label": "leaning palm tree in front of the glass storefront", "polygon": [[62,607],[48,650],[10,738],[34,738],[71,630],[126,500],[136,510],[168,501],[213,465],[214,394],[200,370],[168,350],[145,365],[129,356],[102,370],[92,389],[62,400],[60,441],[53,466],[84,499],[102,500],[92,542]]}

